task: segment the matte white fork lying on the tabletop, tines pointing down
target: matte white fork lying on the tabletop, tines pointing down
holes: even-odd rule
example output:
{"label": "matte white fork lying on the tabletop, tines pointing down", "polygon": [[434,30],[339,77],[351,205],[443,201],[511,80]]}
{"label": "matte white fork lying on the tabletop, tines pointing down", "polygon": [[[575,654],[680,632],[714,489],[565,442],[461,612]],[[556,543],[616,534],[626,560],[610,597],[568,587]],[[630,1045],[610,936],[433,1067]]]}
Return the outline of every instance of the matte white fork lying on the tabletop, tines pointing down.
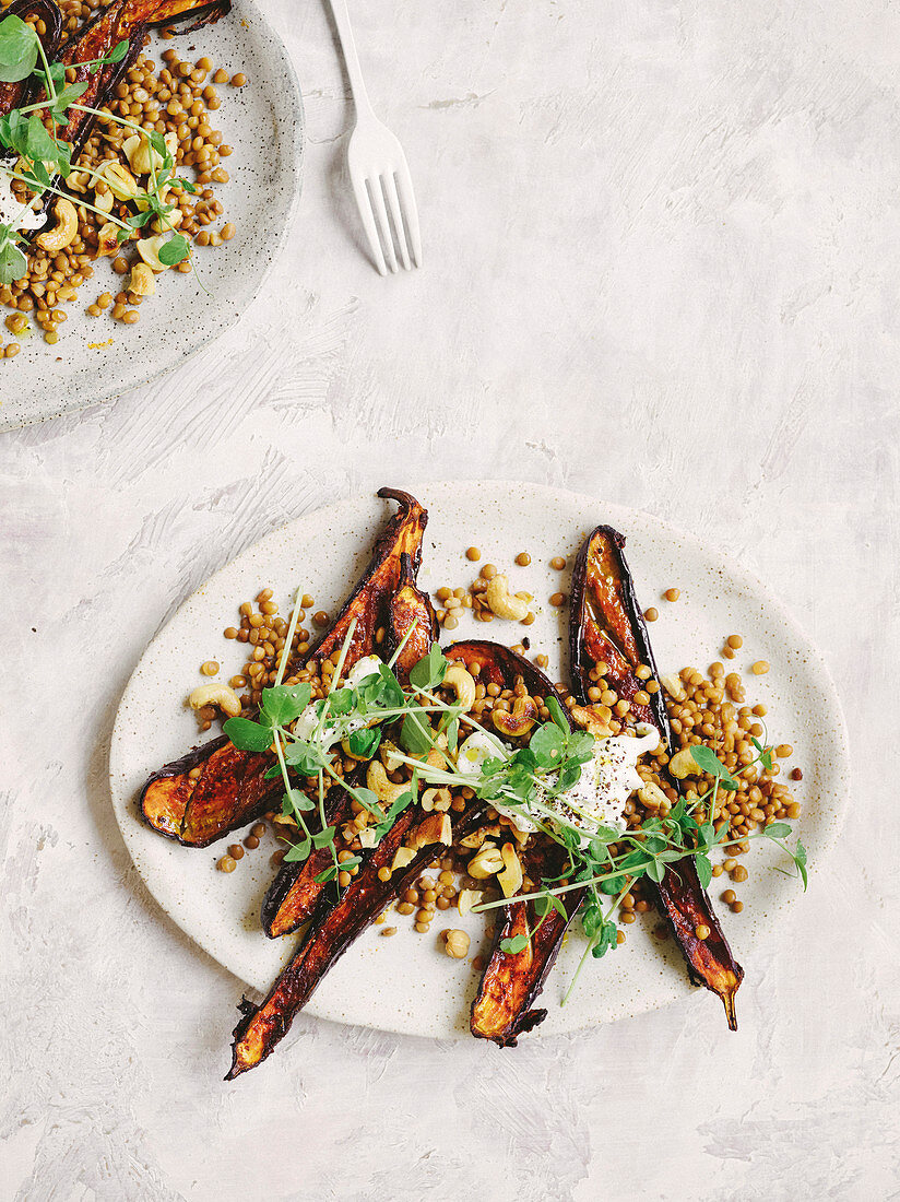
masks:
{"label": "matte white fork lying on the tabletop, tines pointing down", "polygon": [[[350,25],[346,0],[328,0],[347,65],[357,124],[347,145],[347,169],[369,249],[381,275],[422,266],[416,197],[403,147],[372,112]],[[389,215],[389,216],[388,216]]]}

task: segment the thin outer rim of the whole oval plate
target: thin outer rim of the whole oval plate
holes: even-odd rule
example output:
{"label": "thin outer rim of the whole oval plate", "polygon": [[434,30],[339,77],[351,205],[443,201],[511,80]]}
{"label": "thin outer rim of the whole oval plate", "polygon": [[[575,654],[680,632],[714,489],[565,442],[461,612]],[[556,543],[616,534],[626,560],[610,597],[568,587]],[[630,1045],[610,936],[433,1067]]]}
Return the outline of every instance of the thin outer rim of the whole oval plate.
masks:
{"label": "thin outer rim of the whole oval plate", "polygon": [[[465,489],[475,489],[475,490],[489,490],[489,489],[496,489],[496,488],[503,488],[503,487],[507,487],[507,488],[508,487],[515,487],[515,488],[519,488],[519,489],[528,489],[528,490],[530,490],[530,492],[532,492],[532,493],[535,493],[537,495],[543,494],[543,495],[553,496],[554,499],[564,499],[564,500],[571,501],[571,502],[573,501],[573,502],[576,502],[578,505],[582,505],[583,507],[591,506],[591,507],[594,507],[594,508],[597,510],[597,512],[598,512],[598,514],[601,517],[603,514],[607,514],[607,517],[609,518],[609,520],[612,520],[612,523],[615,524],[615,525],[618,525],[621,522],[621,519],[624,517],[626,517],[626,516],[631,516],[632,518],[634,516],[637,516],[637,517],[643,518],[643,519],[649,519],[651,524],[655,524],[661,530],[672,534],[673,536],[675,536],[679,540],[683,540],[683,541],[686,541],[686,542],[693,545],[704,555],[713,555],[715,558],[716,563],[720,563],[720,564],[722,564],[723,566],[726,566],[728,569],[729,573],[732,573],[732,578],[735,579],[739,585],[741,585],[744,588],[750,588],[750,590],[752,593],[755,593],[761,600],[763,600],[765,602],[767,608],[768,607],[774,608],[774,611],[777,613],[779,618],[787,624],[787,626],[789,627],[791,633],[793,635],[793,637],[803,645],[804,651],[806,654],[805,662],[806,662],[807,671],[812,674],[812,677],[813,677],[815,683],[817,684],[817,686],[822,691],[824,691],[827,695],[830,696],[830,701],[833,703],[833,709],[832,709],[832,713],[829,714],[829,718],[834,718],[834,730],[832,732],[833,737],[829,739],[829,744],[835,749],[836,754],[834,756],[834,763],[833,763],[833,767],[832,767],[830,770],[832,770],[832,775],[833,775],[833,779],[834,779],[835,793],[839,795],[840,799],[835,801],[835,804],[832,805],[832,807],[829,807],[829,811],[828,813],[830,815],[832,821],[829,821],[827,823],[827,826],[826,826],[826,828],[823,831],[817,832],[817,840],[816,840],[817,841],[817,849],[816,849],[816,877],[818,877],[819,880],[822,879],[823,874],[821,873],[821,869],[824,867],[827,859],[834,852],[834,849],[836,846],[838,839],[840,838],[841,831],[844,828],[844,823],[845,823],[845,820],[846,820],[847,809],[848,809],[850,803],[851,803],[852,762],[851,762],[851,756],[850,756],[850,737],[848,737],[847,722],[846,722],[846,716],[845,716],[845,713],[844,713],[844,706],[841,703],[840,692],[839,692],[839,690],[838,690],[838,688],[835,685],[835,682],[834,682],[834,679],[832,677],[832,673],[830,673],[830,671],[828,668],[828,665],[827,665],[827,662],[824,660],[824,656],[819,651],[819,649],[816,645],[816,643],[806,635],[806,632],[804,631],[803,626],[793,617],[793,614],[791,613],[791,611],[776,596],[776,594],[765,584],[765,582],[763,582],[758,576],[756,576],[756,573],[752,572],[749,567],[746,567],[739,559],[732,557],[731,554],[722,553],[720,551],[719,546],[705,543],[701,537],[698,537],[692,531],[685,530],[684,528],[678,526],[677,524],[673,524],[672,522],[668,522],[667,519],[660,518],[660,517],[657,517],[657,514],[650,512],[649,510],[640,510],[640,508],[636,508],[633,506],[621,505],[619,502],[600,501],[600,500],[597,500],[596,496],[592,496],[591,494],[579,493],[579,492],[576,492],[574,489],[568,489],[568,488],[564,488],[564,487],[556,487],[556,486],[552,486],[552,484],[532,483],[530,481],[509,480],[509,478],[464,480],[464,481],[459,481],[459,480],[457,480],[457,481],[452,481],[452,480],[442,480],[442,481],[413,480],[411,482],[404,483],[403,487],[406,490],[412,492],[413,495],[416,494],[417,488],[428,488],[428,489],[437,489],[437,490],[443,489],[443,488],[465,488]],[[252,554],[254,552],[258,551],[261,547],[263,547],[269,541],[275,542],[279,537],[284,536],[285,532],[288,531],[293,526],[300,525],[302,523],[303,524],[309,523],[310,519],[321,518],[322,520],[327,520],[327,516],[328,514],[334,514],[338,511],[342,510],[345,506],[353,506],[353,505],[357,505],[357,504],[362,504],[363,501],[366,501],[366,500],[372,500],[374,496],[375,496],[375,490],[374,489],[371,489],[371,490],[366,489],[366,490],[353,492],[352,494],[347,494],[346,496],[341,498],[340,500],[336,500],[336,501],[333,501],[333,502],[330,502],[328,505],[323,505],[323,506],[318,506],[316,508],[309,510],[308,512],[299,514],[298,517],[293,518],[292,520],[282,523],[281,525],[279,525],[279,526],[274,528],[273,530],[268,531],[261,538],[258,538],[256,542],[250,543],[248,547],[243,548],[236,555],[233,555],[226,563],[223,563],[219,569],[216,569],[215,572],[213,572],[196,589],[193,589],[187,596],[185,596],[179,602],[179,605],[177,606],[177,608],[172,612],[172,614],[168,617],[168,619],[165,621],[165,624],[161,625],[154,632],[154,635],[149,639],[147,647],[144,648],[143,653],[141,654],[139,659],[137,660],[131,676],[129,677],[127,684],[125,685],[125,689],[121,692],[121,696],[119,698],[119,703],[118,703],[118,707],[117,707],[117,712],[115,712],[115,719],[114,719],[114,722],[113,722],[113,730],[112,730],[112,734],[111,734],[111,739],[109,739],[108,784],[109,784],[109,789],[111,789],[111,804],[112,804],[112,808],[113,808],[113,813],[115,815],[117,825],[119,827],[123,841],[125,843],[126,849],[129,851],[129,856],[132,859],[132,864],[133,864],[136,871],[138,873],[138,875],[141,876],[141,880],[142,880],[144,887],[148,889],[148,892],[150,893],[150,895],[154,898],[154,902],[167,915],[167,917],[171,918],[175,923],[175,926],[179,928],[179,930],[181,930],[183,934],[192,944],[195,944],[199,948],[201,952],[203,952],[204,954],[208,954],[216,964],[219,964],[221,968],[223,968],[227,972],[232,974],[238,981],[243,982],[244,984],[248,984],[251,989],[255,989],[256,987],[252,983],[246,982],[244,980],[244,977],[240,975],[240,972],[236,971],[233,968],[228,966],[227,964],[223,964],[222,960],[220,960],[219,957],[213,951],[210,951],[210,948],[208,946],[205,946],[204,944],[202,944],[197,938],[195,938],[193,934],[191,934],[191,932],[186,930],[181,926],[181,922],[180,922],[179,916],[178,916],[178,908],[177,906],[166,905],[166,904],[163,904],[156,897],[156,893],[150,887],[149,882],[147,881],[147,877],[144,876],[144,873],[141,870],[141,868],[138,867],[138,864],[136,863],[136,861],[135,861],[135,858],[132,856],[131,840],[129,838],[129,833],[127,833],[125,826],[123,825],[123,820],[125,817],[127,817],[132,822],[137,821],[136,820],[136,815],[133,813],[135,797],[133,796],[131,796],[131,797],[123,797],[123,804],[121,804],[121,807],[119,807],[119,804],[117,804],[117,795],[119,795],[119,793],[126,793],[127,792],[127,790],[125,787],[121,787],[118,784],[118,781],[124,781],[126,779],[126,770],[125,770],[125,768],[121,764],[121,744],[123,744],[123,742],[126,742],[126,736],[123,734],[123,730],[121,730],[121,727],[125,724],[125,719],[124,719],[123,715],[124,715],[124,710],[127,708],[129,697],[130,697],[130,694],[131,694],[132,685],[135,685],[135,683],[136,683],[136,677],[139,676],[142,665],[144,664],[144,660],[148,656],[148,654],[150,653],[150,650],[154,647],[154,644],[157,642],[157,639],[160,639],[165,635],[166,630],[178,618],[178,615],[180,614],[180,612],[189,603],[191,603],[195,600],[198,600],[199,595],[202,593],[204,593],[209,588],[209,585],[213,584],[222,573],[225,573],[228,569],[231,569],[232,565],[237,560],[243,559],[245,555]],[[433,505],[433,510],[434,510],[434,505]],[[598,524],[598,523],[596,523],[596,524]],[[621,524],[622,524],[622,528],[624,528],[626,537],[627,537],[628,536],[628,534],[627,534],[627,522],[621,523]],[[117,776],[118,776],[118,780],[117,780]],[[815,881],[813,881],[813,888],[815,888]],[[799,891],[795,894],[792,894],[792,895],[787,897],[786,899],[781,899],[780,903],[779,903],[779,910],[780,910],[780,912],[783,915],[783,912],[785,912],[786,909],[787,910],[792,909],[794,905],[797,905],[797,903],[799,900],[800,900],[800,892]],[[771,927],[771,924],[769,924],[769,926]],[[675,1002],[678,1000],[686,999],[686,998],[691,996],[692,994],[697,995],[701,992],[702,992],[702,987],[699,987],[699,986],[692,986],[685,978],[683,989],[679,990],[677,994],[673,994],[672,996],[660,999],[660,998],[650,996],[648,994],[639,994],[637,998],[632,998],[632,1002],[631,1002],[631,1006],[630,1006],[630,1010],[627,1011],[627,1013],[622,1013],[622,1014],[618,1016],[616,1019],[614,1019],[614,1020],[618,1020],[618,1018],[637,1017],[638,1014],[648,1013],[648,1012],[654,1011],[654,1010],[662,1010],[666,1006],[669,1006],[669,1005],[672,1005],[673,1002]],[[326,1019],[328,1022],[342,1023],[344,1025],[348,1025],[348,1024],[350,1025],[365,1025],[369,1029],[389,1031],[392,1034],[398,1034],[398,1035],[407,1035],[407,1036],[409,1035],[416,1035],[416,1036],[421,1036],[421,1035],[425,1034],[425,1033],[422,1033],[422,1031],[411,1030],[409,1025],[403,1025],[399,1022],[399,1013],[400,1013],[399,1008],[397,1011],[392,1012],[392,1013],[395,1013],[398,1016],[397,1018],[385,1019],[385,1018],[379,1017],[379,1018],[372,1019],[372,1020],[370,1020],[370,1022],[368,1022],[365,1024],[360,1024],[354,1018],[341,1017],[340,1014],[334,1013],[333,1008],[330,1008],[329,1012],[324,1012],[324,1010],[320,1011],[318,1007],[317,1007],[317,1005],[316,1005],[316,1001],[317,1001],[317,999],[314,996],[310,1000],[310,1002],[308,1004],[308,1006],[304,1007],[304,1013],[308,1017],[315,1017],[317,1019]],[[576,1023],[573,1023],[573,1025],[567,1027],[565,1029],[565,1031],[547,1033],[544,1035],[544,1039],[556,1037],[558,1035],[564,1035],[564,1034],[572,1034],[572,1033],[576,1033],[576,1031],[579,1031],[579,1030],[592,1029],[595,1027],[603,1025],[603,1023],[607,1022],[607,1020],[608,1019],[594,1019],[594,1020],[591,1020],[590,1018],[585,1017],[584,1020],[576,1022]],[[465,1039],[466,1036],[465,1036],[464,1033],[458,1031],[458,1033],[454,1033],[451,1036],[446,1036],[445,1035],[442,1037],[454,1037],[454,1039],[459,1037],[459,1039]]]}

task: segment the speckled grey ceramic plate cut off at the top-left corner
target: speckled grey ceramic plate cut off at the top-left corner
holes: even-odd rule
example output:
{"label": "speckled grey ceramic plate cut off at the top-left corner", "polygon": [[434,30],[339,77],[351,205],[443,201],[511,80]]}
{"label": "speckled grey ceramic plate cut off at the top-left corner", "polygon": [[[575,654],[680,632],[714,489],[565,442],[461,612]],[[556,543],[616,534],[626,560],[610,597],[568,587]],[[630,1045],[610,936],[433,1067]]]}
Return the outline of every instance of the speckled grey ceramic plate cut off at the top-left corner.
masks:
{"label": "speckled grey ceramic plate cut off at the top-left corner", "polygon": [[223,161],[231,179],[215,194],[225,207],[222,224],[233,222],[237,234],[220,250],[199,249],[197,273],[159,276],[157,294],[142,307],[136,326],[114,322],[108,313],[87,315],[91,300],[121,282],[108,260],[99,262],[78,300],[66,307],[59,343],[48,346],[35,328],[19,339],[16,359],[4,364],[0,430],[108,400],[178,367],[236,323],[287,236],[300,195],[303,100],[280,38],[254,0],[234,0],[227,17],[195,34],[169,42],[154,35],[148,54],[159,63],[166,47],[192,60],[205,54],[214,66],[243,71],[250,81],[240,89],[222,85],[222,105],[213,114],[234,148]]}

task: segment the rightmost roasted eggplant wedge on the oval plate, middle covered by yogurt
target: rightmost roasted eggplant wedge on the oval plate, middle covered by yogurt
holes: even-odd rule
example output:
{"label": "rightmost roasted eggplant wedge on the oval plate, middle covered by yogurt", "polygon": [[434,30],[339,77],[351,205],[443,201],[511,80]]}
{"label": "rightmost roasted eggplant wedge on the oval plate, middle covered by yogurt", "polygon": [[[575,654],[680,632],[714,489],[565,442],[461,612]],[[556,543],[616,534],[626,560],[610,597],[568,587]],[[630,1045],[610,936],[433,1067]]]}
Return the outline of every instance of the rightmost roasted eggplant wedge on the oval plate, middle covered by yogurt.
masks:
{"label": "rightmost roasted eggplant wedge on the oval plate, middle covered by yogurt", "polygon": [[[607,680],[620,697],[631,702],[636,719],[655,726],[670,748],[672,730],[662,688],[650,695],[649,706],[633,701],[646,683],[636,674],[639,665],[652,671],[657,685],[660,678],[624,546],[625,538],[618,530],[597,526],[576,560],[570,614],[572,691],[580,704],[589,704],[588,690],[594,683],[590,673],[597,664],[604,664]],[[678,787],[678,781],[670,783]],[[649,879],[648,883],[655,889],[656,904],[684,953],[691,981],[722,999],[728,1025],[737,1030],[734,995],[744,970],[732,956],[693,859],[689,857],[679,861],[678,867],[667,868],[658,886]],[[709,928],[708,939],[695,935],[699,926]]]}

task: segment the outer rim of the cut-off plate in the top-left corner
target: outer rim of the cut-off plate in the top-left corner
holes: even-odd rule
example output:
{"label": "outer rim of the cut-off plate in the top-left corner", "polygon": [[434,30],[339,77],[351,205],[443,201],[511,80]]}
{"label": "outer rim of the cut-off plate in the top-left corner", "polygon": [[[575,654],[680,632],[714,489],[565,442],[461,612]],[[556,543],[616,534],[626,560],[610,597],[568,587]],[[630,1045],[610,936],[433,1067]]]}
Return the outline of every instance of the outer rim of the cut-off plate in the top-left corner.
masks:
{"label": "outer rim of the cut-off plate in the top-left corner", "polygon": [[[240,321],[246,310],[257,298],[263,288],[263,285],[272,274],[278,257],[287,242],[287,237],[293,227],[297,219],[297,212],[300,203],[300,196],[303,194],[303,167],[305,160],[305,132],[306,132],[306,113],[303,103],[303,90],[300,88],[299,76],[297,75],[297,67],[294,66],[293,58],[291,56],[285,40],[275,28],[275,25],[269,20],[268,16],[263,12],[262,5],[257,0],[240,0],[240,7],[250,11],[252,18],[258,22],[258,26],[264,31],[264,38],[269,43],[274,52],[279,55],[280,65],[284,69],[286,82],[288,84],[288,103],[291,105],[291,130],[290,135],[286,136],[285,141],[290,143],[290,161],[288,167],[291,172],[291,200],[288,202],[287,213],[285,215],[285,222],[282,227],[275,233],[272,240],[272,254],[266,262],[262,274],[256,282],[256,286],[248,294],[243,305],[236,305],[230,309],[226,316],[221,320],[215,320],[214,314],[204,315],[198,325],[195,327],[195,344],[186,351],[184,351],[178,359],[165,367],[156,368],[151,375],[141,379],[136,383],[126,383],[121,386],[112,386],[112,391],[102,391],[100,395],[87,397],[85,399],[76,399],[71,404],[62,405],[59,409],[54,409],[52,412],[41,413],[35,416],[12,417],[10,421],[4,421],[2,409],[0,409],[0,434],[8,433],[11,430],[26,429],[29,426],[37,426],[42,422],[53,422],[59,417],[65,417],[68,413],[78,413],[84,409],[90,409],[94,405],[106,405],[111,400],[118,400],[120,397],[126,397],[131,392],[137,392],[138,388],[148,387],[156,383],[163,376],[172,371],[177,371],[181,368],[189,359],[192,359],[201,351],[214,346],[230,329]],[[234,8],[232,7],[228,17],[238,17]],[[62,382],[60,393],[65,394],[65,382]],[[237,557],[236,557],[237,558]],[[227,565],[225,565],[227,566]]]}

